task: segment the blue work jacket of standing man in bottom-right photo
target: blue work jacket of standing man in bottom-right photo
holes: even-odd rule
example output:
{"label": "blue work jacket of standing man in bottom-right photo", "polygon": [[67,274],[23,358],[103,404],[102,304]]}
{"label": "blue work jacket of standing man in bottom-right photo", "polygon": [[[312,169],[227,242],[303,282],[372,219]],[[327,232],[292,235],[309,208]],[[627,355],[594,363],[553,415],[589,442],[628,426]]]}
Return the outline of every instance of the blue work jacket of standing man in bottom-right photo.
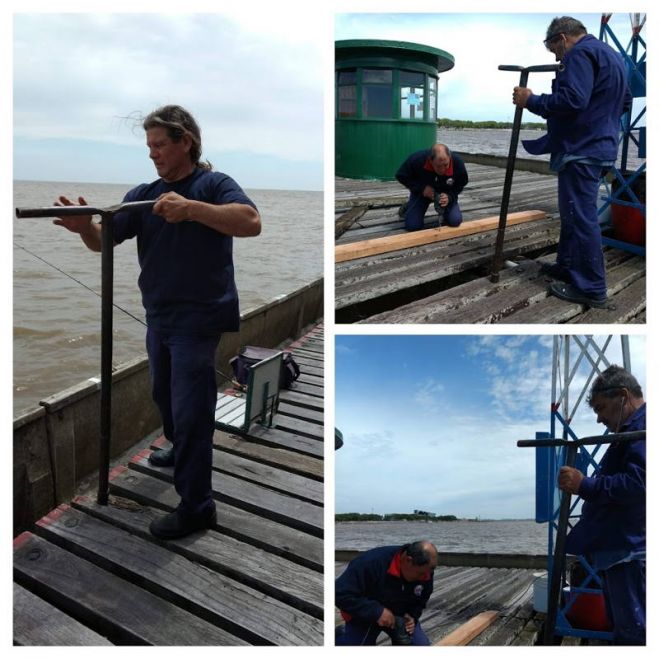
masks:
{"label": "blue work jacket of standing man in bottom-right photo", "polygon": [[[645,404],[620,432],[645,430]],[[567,552],[645,550],[645,441],[611,444],[595,476],[579,487],[581,519],[567,537]]]}

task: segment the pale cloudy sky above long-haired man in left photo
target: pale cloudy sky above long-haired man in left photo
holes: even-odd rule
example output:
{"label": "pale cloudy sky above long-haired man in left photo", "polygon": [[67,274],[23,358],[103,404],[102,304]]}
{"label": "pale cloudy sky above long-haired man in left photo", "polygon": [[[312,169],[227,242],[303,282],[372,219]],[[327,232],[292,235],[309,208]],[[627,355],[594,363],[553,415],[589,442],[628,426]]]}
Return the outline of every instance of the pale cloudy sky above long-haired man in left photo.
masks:
{"label": "pale cloudy sky above long-haired man in left photo", "polygon": [[138,117],[177,103],[244,187],[322,189],[323,41],[295,16],[15,14],[14,178],[151,180]]}

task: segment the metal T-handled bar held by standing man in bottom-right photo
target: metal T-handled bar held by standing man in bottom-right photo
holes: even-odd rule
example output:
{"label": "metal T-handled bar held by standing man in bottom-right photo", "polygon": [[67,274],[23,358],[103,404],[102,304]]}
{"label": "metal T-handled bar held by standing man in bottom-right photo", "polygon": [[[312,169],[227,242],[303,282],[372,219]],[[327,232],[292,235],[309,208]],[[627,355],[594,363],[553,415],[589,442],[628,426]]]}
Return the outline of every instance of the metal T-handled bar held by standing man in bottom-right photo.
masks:
{"label": "metal T-handled bar held by standing man in bottom-right photo", "polygon": [[[595,444],[613,444],[615,442],[634,442],[645,440],[645,430],[633,432],[609,433],[608,435],[595,435],[580,439],[522,439],[517,442],[520,447],[565,447],[565,466],[574,467],[579,446]],[[567,540],[567,526],[570,516],[572,495],[569,492],[561,493],[561,503],[556,528],[556,543],[554,545],[553,562],[551,568],[551,581],[547,600],[547,617],[545,618],[544,644],[554,644],[554,628],[558,615],[561,594],[561,579],[565,565],[565,543]]]}

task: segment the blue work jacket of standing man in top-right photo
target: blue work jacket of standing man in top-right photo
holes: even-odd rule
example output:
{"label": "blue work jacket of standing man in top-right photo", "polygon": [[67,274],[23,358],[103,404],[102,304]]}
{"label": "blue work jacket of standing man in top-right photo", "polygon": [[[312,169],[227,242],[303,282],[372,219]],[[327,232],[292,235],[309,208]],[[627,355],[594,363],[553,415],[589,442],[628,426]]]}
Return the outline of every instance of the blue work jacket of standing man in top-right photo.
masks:
{"label": "blue work jacket of standing man in top-right photo", "polygon": [[532,94],[526,108],[547,119],[547,134],[523,140],[532,154],[564,153],[600,160],[618,154],[620,116],[632,97],[622,57],[591,34],[562,60],[551,94]]}

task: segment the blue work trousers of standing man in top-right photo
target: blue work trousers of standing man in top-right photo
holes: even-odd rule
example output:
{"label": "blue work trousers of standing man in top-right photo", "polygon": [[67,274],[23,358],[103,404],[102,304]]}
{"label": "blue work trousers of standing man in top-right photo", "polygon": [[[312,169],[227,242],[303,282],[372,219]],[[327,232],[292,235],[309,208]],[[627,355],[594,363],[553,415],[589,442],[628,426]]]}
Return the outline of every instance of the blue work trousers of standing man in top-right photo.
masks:
{"label": "blue work trousers of standing man in top-right photo", "polygon": [[606,269],[597,195],[602,168],[568,163],[558,173],[561,235],[556,262],[567,269],[572,283],[589,297],[606,297]]}

